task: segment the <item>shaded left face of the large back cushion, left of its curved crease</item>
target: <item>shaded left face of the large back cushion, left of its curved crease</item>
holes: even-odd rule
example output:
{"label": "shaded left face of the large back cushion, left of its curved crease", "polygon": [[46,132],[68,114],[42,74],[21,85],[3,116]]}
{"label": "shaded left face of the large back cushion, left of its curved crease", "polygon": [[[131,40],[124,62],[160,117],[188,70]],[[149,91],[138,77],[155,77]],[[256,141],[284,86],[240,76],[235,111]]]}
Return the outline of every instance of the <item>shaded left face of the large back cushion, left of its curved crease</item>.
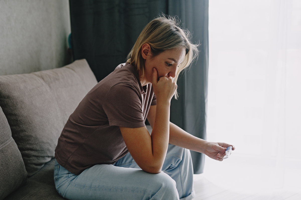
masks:
{"label": "shaded left face of the large back cushion, left of its curved crease", "polygon": [[32,176],[54,157],[64,127],[57,102],[40,78],[20,74],[0,76],[0,106]]}

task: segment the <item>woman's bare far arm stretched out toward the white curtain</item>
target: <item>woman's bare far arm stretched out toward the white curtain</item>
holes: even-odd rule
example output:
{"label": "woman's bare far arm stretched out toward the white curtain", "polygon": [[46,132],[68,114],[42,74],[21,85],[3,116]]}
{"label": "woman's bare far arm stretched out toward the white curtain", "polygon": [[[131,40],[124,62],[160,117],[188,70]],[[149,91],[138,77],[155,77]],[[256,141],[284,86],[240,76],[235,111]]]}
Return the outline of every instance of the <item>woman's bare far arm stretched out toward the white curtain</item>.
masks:
{"label": "woman's bare far arm stretched out toward the white curtain", "polygon": [[[151,126],[154,122],[153,117],[155,113],[156,106],[151,106],[147,115],[147,120]],[[171,122],[169,122],[169,144],[206,154],[208,157],[219,161],[223,160],[227,147],[232,146],[232,150],[235,149],[233,145],[227,143],[207,142],[197,138]]]}

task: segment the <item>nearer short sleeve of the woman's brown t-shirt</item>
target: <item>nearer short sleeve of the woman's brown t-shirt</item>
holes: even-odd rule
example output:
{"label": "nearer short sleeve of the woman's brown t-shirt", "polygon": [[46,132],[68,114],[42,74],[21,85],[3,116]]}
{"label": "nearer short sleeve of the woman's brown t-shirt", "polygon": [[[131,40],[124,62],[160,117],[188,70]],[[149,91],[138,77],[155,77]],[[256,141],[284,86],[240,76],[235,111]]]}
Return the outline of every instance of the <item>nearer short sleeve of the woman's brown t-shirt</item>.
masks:
{"label": "nearer short sleeve of the woman's brown t-shirt", "polygon": [[119,83],[110,88],[102,106],[110,126],[145,126],[139,95],[139,91],[130,83]]}

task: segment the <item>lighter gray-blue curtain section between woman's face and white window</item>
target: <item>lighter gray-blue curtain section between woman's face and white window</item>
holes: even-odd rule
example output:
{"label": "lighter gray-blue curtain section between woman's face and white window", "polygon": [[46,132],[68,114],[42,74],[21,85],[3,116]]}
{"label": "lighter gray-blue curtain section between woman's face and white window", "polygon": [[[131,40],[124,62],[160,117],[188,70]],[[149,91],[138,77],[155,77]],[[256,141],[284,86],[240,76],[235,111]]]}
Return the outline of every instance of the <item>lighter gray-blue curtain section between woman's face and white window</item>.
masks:
{"label": "lighter gray-blue curtain section between woman's face and white window", "polygon": [[[172,99],[170,121],[188,133],[206,140],[208,88],[208,1],[169,0],[168,14],[177,15],[200,43],[199,58],[178,79],[178,100]],[[178,109],[180,108],[180,109]],[[205,155],[191,151],[194,173],[203,173]]]}

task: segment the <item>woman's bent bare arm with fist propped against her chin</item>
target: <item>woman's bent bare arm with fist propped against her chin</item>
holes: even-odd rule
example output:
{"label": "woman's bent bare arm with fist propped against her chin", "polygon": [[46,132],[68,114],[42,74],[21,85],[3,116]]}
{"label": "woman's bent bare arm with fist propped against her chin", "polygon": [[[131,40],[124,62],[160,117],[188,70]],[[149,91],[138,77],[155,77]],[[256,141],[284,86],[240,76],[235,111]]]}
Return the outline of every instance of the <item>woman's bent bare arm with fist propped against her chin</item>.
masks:
{"label": "woman's bent bare arm with fist propped against her chin", "polygon": [[169,142],[170,100],[177,85],[172,79],[160,77],[157,70],[153,73],[153,88],[157,97],[156,116],[151,135],[147,128],[119,127],[124,142],[138,166],[146,172],[160,173]]}

